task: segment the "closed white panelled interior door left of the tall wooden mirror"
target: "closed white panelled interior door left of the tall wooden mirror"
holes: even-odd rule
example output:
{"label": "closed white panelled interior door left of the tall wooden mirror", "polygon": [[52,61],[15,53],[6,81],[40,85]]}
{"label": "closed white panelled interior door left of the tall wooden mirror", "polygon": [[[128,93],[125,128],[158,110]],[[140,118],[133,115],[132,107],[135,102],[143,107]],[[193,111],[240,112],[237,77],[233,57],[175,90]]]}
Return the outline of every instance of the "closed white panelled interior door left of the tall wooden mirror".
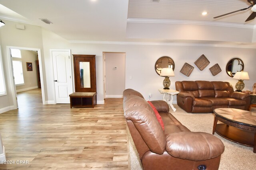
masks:
{"label": "closed white panelled interior door left of the tall wooden mirror", "polygon": [[73,93],[70,50],[51,50],[56,104],[69,104]]}

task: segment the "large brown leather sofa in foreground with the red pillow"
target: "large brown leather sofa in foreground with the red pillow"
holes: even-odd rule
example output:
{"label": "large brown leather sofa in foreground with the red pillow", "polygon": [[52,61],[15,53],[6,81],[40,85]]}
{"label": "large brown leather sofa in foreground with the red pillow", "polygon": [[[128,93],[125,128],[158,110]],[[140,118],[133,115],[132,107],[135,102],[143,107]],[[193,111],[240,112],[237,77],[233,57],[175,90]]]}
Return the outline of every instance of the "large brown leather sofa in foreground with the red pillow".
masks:
{"label": "large brown leather sofa in foreground with the red pillow", "polygon": [[224,145],[204,132],[191,132],[163,100],[151,101],[164,122],[164,131],[139,92],[126,89],[124,117],[144,170],[217,170]]}

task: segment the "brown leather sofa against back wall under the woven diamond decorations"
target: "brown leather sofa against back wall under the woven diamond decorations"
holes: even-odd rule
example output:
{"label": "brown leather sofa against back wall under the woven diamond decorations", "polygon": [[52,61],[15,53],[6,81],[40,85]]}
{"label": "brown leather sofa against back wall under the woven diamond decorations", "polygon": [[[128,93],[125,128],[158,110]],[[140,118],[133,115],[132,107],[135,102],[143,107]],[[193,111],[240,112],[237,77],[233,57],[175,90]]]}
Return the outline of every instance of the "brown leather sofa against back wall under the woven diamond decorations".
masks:
{"label": "brown leather sofa against back wall under the woven diamond decorations", "polygon": [[210,113],[220,107],[247,110],[250,95],[234,92],[229,82],[177,81],[177,104],[189,113]]}

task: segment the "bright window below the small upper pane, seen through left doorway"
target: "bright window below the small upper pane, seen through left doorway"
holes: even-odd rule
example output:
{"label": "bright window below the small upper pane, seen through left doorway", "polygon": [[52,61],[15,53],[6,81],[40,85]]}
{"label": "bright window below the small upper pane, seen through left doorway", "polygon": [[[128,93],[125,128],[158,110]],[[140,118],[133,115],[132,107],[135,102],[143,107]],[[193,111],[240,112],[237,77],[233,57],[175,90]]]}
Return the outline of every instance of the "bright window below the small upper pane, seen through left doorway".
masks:
{"label": "bright window below the small upper pane, seen through left doorway", "polygon": [[15,85],[24,84],[22,62],[12,61],[12,66],[13,66],[13,75],[14,75]]}

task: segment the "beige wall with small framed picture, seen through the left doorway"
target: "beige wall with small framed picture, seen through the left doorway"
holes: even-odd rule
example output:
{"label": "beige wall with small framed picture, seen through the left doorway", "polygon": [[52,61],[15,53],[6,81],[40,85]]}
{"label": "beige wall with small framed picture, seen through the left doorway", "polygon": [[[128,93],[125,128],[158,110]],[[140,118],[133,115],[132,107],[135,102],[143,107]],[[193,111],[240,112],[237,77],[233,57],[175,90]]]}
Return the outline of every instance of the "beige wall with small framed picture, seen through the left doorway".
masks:
{"label": "beige wall with small framed picture, seen through the left doorway", "polygon": [[[29,50],[20,50],[20,53],[21,59],[12,58],[13,60],[22,61],[22,70],[24,77],[24,84],[16,86],[16,92],[22,92],[33,88],[38,88],[38,77],[36,68],[36,60],[38,60],[37,54]],[[32,71],[27,71],[26,62],[32,63]]]}

